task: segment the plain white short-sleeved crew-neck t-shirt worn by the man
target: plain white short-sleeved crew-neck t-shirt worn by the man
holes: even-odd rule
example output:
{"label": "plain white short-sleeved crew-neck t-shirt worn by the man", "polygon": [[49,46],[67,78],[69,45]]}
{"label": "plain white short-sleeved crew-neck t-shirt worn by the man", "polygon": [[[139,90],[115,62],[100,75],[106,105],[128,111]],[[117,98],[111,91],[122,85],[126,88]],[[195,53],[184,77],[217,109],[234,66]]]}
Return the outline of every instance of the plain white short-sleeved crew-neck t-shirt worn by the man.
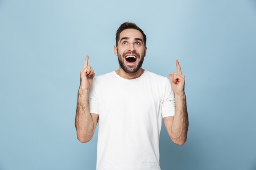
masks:
{"label": "plain white short-sleeved crew-neck t-shirt worn by the man", "polygon": [[95,77],[90,113],[99,114],[97,170],[160,170],[162,117],[174,116],[167,77],[144,71],[124,79],[115,71]]}

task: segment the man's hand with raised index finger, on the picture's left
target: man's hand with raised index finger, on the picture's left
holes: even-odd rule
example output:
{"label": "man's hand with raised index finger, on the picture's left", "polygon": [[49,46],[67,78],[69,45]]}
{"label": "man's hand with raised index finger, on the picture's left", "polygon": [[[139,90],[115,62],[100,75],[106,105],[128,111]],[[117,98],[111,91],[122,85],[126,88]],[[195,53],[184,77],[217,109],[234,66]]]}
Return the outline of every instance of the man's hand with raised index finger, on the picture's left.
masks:
{"label": "man's hand with raised index finger, on the picture's left", "polygon": [[89,90],[92,86],[92,80],[95,75],[94,70],[91,66],[88,66],[89,56],[87,55],[85,58],[85,62],[83,64],[83,70],[80,71],[80,89]]}

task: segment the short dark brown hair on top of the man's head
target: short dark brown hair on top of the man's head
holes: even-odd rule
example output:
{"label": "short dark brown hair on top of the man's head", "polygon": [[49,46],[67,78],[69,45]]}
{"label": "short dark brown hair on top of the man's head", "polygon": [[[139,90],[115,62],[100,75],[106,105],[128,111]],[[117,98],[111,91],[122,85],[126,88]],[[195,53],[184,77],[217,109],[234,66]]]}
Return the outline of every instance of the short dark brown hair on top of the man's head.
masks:
{"label": "short dark brown hair on top of the man's head", "polygon": [[119,37],[120,33],[122,31],[124,31],[125,29],[137,29],[137,30],[139,30],[139,32],[141,32],[141,34],[143,36],[144,45],[146,47],[146,40],[147,40],[146,35],[142,31],[142,29],[139,28],[139,26],[137,26],[135,23],[132,23],[132,22],[124,22],[123,24],[121,24],[119,26],[119,28],[117,29],[117,33],[116,33],[116,46],[117,46],[117,43],[118,43],[118,41],[120,39],[120,37]]}

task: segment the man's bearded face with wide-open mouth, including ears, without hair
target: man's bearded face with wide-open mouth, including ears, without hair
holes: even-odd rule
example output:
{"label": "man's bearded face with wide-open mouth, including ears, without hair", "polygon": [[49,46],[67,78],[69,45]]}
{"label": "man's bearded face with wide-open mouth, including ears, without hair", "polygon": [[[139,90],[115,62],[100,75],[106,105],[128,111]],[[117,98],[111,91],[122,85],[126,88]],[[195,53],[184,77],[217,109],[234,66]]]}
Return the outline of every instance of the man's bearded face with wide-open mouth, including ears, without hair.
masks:
{"label": "man's bearded face with wide-open mouth, including ears, without hair", "polygon": [[117,46],[114,46],[118,62],[126,73],[136,73],[141,68],[146,49],[143,36],[139,30],[125,29],[119,35]]}

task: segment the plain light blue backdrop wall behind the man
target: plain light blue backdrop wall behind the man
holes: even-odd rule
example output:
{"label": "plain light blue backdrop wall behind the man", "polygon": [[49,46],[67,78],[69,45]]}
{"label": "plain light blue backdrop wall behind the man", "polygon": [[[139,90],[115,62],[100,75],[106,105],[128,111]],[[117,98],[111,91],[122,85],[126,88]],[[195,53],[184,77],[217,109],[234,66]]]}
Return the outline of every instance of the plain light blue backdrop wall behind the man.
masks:
{"label": "plain light blue backdrop wall behind the man", "polygon": [[74,118],[86,55],[96,75],[118,69],[115,31],[147,35],[143,68],[186,76],[189,134],[162,126],[162,170],[256,170],[256,1],[0,0],[0,170],[95,170]]}

